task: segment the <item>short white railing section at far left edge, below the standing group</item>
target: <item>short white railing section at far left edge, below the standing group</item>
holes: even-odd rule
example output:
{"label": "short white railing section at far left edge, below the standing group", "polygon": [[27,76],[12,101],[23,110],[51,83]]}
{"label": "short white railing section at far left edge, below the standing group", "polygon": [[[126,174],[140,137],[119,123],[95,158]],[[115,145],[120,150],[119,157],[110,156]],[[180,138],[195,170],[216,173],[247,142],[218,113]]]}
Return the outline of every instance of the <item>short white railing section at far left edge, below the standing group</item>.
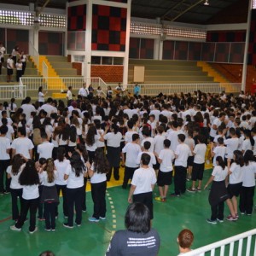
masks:
{"label": "short white railing section at far left edge, below the standing group", "polygon": [[26,97],[25,85],[1,85],[0,99],[24,99]]}

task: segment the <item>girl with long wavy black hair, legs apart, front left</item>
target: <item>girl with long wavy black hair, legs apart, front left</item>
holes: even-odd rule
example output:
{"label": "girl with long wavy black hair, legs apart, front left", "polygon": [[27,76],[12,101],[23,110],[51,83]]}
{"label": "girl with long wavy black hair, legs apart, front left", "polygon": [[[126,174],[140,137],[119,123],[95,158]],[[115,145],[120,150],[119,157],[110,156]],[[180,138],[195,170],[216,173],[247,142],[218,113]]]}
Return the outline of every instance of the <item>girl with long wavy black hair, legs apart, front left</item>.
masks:
{"label": "girl with long wavy black hair, legs apart, front left", "polygon": [[11,230],[20,231],[25,220],[28,210],[30,211],[30,225],[29,233],[33,234],[38,230],[36,227],[36,215],[38,209],[39,191],[38,185],[40,183],[38,171],[33,160],[28,160],[23,171],[20,173],[20,185],[22,186],[23,208],[20,213],[20,218],[17,223],[10,227]]}

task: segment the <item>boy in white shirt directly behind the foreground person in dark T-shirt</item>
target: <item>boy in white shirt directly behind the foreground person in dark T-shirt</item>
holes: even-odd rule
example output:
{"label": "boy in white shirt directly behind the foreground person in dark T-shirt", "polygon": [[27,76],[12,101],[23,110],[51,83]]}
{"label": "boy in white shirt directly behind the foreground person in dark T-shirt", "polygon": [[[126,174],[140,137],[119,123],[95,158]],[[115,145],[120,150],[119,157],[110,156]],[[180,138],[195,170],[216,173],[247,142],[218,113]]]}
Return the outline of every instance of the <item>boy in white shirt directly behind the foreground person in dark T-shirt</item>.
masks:
{"label": "boy in white shirt directly behind the foreground person in dark T-shirt", "polygon": [[154,169],[148,166],[149,161],[150,155],[144,153],[142,155],[141,167],[134,172],[131,180],[131,189],[128,196],[128,202],[142,202],[148,207],[150,212],[150,219],[153,219],[154,214],[152,191],[154,189],[154,184],[156,183],[156,177]]}

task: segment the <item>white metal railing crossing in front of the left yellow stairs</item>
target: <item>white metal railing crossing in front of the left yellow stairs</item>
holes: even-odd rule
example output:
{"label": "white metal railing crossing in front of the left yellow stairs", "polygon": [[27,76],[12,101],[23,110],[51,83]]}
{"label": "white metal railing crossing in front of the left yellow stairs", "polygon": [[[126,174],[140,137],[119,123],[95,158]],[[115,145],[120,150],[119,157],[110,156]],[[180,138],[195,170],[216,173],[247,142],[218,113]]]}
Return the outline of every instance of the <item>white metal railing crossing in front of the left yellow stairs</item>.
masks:
{"label": "white metal railing crossing in front of the left yellow stairs", "polygon": [[22,77],[20,84],[26,85],[27,90],[38,90],[39,86],[43,86],[44,90],[67,90],[68,86],[72,86],[73,90],[79,90],[82,84],[86,83],[87,86],[91,84],[93,88],[98,86],[102,90],[107,90],[107,84],[101,78],[85,78],[84,77]]}

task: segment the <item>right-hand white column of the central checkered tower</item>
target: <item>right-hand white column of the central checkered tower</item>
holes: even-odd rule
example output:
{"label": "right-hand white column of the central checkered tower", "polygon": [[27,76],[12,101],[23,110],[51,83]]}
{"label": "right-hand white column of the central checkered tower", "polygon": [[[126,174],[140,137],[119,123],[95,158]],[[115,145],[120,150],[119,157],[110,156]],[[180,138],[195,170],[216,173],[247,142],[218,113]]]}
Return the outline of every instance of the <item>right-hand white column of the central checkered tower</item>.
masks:
{"label": "right-hand white column of the central checkered tower", "polygon": [[131,0],[127,3],[127,19],[126,19],[126,40],[125,40],[125,58],[123,84],[128,84],[128,65],[129,65],[129,49],[130,49],[130,26],[131,26]]}

